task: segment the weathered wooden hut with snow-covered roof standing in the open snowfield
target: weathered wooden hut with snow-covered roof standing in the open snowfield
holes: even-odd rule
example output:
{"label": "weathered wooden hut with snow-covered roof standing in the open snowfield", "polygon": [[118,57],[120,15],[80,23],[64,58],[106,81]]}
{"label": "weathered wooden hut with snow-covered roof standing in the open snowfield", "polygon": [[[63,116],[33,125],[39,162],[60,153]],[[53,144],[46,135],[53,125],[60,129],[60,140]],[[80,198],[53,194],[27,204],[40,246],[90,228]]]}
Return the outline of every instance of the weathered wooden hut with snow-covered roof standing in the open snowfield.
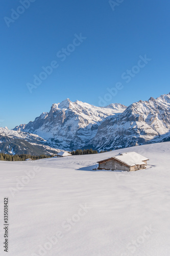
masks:
{"label": "weathered wooden hut with snow-covered roof standing in the open snowfield", "polygon": [[99,161],[99,170],[132,170],[145,169],[149,159],[136,152],[119,153],[117,156]]}

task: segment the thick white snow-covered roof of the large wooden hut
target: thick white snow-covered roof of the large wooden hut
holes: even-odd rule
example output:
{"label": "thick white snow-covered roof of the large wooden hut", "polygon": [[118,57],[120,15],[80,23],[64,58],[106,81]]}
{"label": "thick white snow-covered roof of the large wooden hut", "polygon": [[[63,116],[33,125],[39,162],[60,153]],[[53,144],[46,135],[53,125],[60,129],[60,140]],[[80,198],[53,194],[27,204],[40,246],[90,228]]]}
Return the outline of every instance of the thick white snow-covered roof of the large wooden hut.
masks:
{"label": "thick white snow-covered roof of the large wooden hut", "polygon": [[143,157],[136,152],[120,153],[113,158],[129,166],[144,164],[143,161],[149,160],[147,157]]}

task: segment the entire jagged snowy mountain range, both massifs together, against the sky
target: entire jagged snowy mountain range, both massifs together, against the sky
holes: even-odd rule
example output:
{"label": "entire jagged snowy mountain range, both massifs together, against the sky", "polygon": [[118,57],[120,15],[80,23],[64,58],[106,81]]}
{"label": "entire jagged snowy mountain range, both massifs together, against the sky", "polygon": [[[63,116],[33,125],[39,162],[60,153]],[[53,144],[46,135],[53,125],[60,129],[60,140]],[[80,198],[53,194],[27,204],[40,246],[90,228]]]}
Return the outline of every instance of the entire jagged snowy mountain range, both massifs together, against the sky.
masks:
{"label": "entire jagged snowy mountain range, both massifs together, against the sky", "polygon": [[53,147],[113,150],[170,140],[170,94],[138,101],[128,108],[114,103],[97,107],[66,99],[15,131],[37,134]]}

